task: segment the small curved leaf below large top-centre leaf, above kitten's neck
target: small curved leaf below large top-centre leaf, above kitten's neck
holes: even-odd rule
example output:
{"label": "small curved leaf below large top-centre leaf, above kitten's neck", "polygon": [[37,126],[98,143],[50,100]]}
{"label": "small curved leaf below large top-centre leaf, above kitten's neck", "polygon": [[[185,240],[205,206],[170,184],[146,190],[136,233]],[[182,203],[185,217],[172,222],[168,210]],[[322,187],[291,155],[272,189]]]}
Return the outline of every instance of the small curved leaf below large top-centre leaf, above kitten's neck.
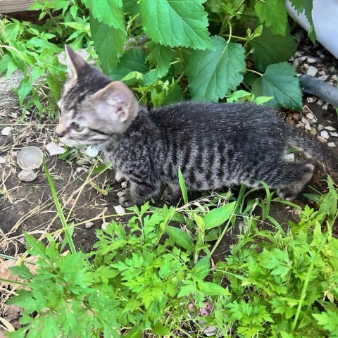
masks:
{"label": "small curved leaf below large top-centre leaf, above kitten's neck", "polygon": [[169,47],[155,44],[154,42],[149,42],[146,46],[151,51],[149,56],[146,57],[146,61],[156,61],[156,68],[150,70],[150,72],[146,73],[143,77],[144,84],[149,86],[156,82],[158,78],[161,78],[168,73],[172,53]]}

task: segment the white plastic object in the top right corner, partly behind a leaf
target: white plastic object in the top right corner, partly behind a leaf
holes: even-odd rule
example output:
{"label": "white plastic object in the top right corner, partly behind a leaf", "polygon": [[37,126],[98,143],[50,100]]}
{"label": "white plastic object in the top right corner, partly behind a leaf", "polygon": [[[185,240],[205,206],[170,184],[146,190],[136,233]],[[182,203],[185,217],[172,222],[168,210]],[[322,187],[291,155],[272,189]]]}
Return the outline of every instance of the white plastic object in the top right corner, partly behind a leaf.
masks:
{"label": "white plastic object in the top right corner, partly behind a leaf", "polygon": [[[310,23],[306,16],[297,13],[289,1],[286,4],[292,18],[308,31]],[[312,19],[318,42],[338,58],[338,0],[313,0]]]}

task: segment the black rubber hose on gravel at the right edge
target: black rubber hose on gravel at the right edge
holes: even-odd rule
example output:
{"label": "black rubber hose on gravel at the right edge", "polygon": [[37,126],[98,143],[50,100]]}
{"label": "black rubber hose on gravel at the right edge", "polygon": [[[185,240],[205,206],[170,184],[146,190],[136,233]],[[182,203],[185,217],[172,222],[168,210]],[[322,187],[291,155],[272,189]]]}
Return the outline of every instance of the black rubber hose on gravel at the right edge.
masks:
{"label": "black rubber hose on gravel at the right edge", "polygon": [[323,101],[338,107],[338,88],[311,75],[301,75],[303,93],[320,97]]}

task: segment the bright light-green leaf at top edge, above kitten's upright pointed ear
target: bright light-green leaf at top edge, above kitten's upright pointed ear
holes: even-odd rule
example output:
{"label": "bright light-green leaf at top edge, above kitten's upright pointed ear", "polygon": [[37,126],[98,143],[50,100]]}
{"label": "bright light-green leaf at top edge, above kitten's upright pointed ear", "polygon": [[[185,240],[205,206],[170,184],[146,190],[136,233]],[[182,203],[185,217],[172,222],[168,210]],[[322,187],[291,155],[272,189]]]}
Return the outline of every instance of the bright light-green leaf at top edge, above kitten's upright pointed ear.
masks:
{"label": "bright light-green leaf at top edge, above kitten's upright pointed ear", "polygon": [[82,0],[91,15],[99,22],[125,34],[122,0]]}

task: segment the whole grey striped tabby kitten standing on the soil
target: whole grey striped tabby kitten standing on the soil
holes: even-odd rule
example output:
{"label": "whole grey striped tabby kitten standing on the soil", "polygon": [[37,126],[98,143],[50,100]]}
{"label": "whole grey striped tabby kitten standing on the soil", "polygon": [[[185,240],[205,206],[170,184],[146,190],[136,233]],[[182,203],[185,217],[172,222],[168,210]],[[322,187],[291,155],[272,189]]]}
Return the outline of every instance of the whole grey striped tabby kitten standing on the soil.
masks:
{"label": "whole grey striped tabby kitten standing on the soil", "polygon": [[296,147],[325,165],[325,146],[286,125],[272,108],[182,102],[147,110],[123,82],[111,82],[70,46],[66,53],[70,77],[56,134],[67,144],[104,146],[130,184],[118,194],[121,204],[142,204],[163,184],[174,197],[179,167],[190,191],[265,181],[282,199],[294,199],[315,165],[287,161],[287,149]]}

